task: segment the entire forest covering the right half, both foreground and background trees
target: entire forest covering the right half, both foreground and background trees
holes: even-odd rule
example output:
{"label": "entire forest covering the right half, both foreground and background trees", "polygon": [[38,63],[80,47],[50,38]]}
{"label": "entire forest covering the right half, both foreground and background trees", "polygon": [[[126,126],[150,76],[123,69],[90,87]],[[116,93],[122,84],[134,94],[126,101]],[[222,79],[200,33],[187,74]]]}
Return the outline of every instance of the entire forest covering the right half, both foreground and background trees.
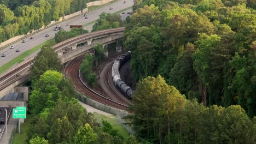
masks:
{"label": "entire forest covering the right half, both foreground and background trees", "polygon": [[[152,143],[255,143],[255,1],[138,0],[127,117]],[[247,137],[249,136],[249,137]]]}

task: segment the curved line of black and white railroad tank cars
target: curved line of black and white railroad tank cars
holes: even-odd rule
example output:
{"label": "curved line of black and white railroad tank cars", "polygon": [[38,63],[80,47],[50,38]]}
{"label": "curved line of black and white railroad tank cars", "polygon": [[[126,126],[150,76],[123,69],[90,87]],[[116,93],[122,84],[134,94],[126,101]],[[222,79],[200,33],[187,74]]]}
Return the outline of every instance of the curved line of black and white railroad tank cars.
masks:
{"label": "curved line of black and white railroad tank cars", "polygon": [[131,87],[127,86],[123,80],[121,80],[119,68],[122,64],[127,62],[130,58],[131,58],[131,51],[125,52],[116,61],[114,61],[114,64],[112,66],[112,79],[115,86],[117,86],[129,99],[131,99],[133,90],[131,89]]}

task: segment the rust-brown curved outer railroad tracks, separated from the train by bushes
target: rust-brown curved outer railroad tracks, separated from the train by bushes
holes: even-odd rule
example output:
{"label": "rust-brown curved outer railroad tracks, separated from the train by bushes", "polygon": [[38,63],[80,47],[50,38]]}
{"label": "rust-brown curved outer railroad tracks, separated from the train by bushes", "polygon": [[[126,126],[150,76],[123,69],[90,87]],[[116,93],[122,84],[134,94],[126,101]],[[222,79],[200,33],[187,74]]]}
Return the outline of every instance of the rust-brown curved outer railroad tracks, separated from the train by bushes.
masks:
{"label": "rust-brown curved outer railroad tracks, separated from the train by bushes", "polygon": [[73,85],[75,89],[79,93],[85,94],[86,96],[104,104],[109,105],[112,107],[115,107],[117,109],[121,110],[127,110],[127,105],[118,103],[112,99],[109,99],[105,97],[104,95],[101,95],[97,92],[95,92],[93,89],[89,88],[85,82],[82,81],[80,77],[80,64],[83,61],[84,56],[79,56],[77,58],[74,58],[71,62],[69,62],[65,67],[65,77],[70,77],[72,79]]}

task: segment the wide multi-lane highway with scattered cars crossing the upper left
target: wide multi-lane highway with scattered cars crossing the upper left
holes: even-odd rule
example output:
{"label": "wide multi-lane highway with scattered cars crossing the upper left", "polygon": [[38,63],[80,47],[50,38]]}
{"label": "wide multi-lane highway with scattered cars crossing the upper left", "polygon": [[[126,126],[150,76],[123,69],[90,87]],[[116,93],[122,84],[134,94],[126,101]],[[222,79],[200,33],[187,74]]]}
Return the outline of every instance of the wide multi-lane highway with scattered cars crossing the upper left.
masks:
{"label": "wide multi-lane highway with scattered cars crossing the upper left", "polygon": [[[63,21],[56,25],[61,25],[61,27],[65,31],[70,31],[70,28],[68,26],[66,26],[67,23],[69,23],[69,25],[86,25],[89,22],[97,20],[99,18],[99,15],[103,11],[106,13],[114,13],[114,12],[120,11],[122,9],[131,7],[133,5],[132,0],[128,0],[126,2],[127,3],[123,3],[123,1],[119,0],[118,2],[106,5],[105,7],[102,7],[100,9],[89,11],[89,13],[87,13],[87,16],[89,17],[89,19],[84,19],[83,15],[79,15],[77,17]],[[112,7],[113,9],[109,10],[110,7]],[[129,10],[129,11],[131,12],[131,10]],[[127,11],[125,11],[125,12],[126,12],[125,14],[120,13],[120,15],[122,16],[123,19],[129,15],[129,14],[127,14]],[[46,41],[48,39],[54,38],[55,33],[57,33],[56,31],[54,31],[54,28],[56,25],[45,28],[42,31],[39,31],[37,33],[34,33],[34,34],[28,36],[27,38],[22,39],[22,40],[26,41],[25,43],[22,43],[22,40],[16,41],[15,43],[10,45],[10,46],[14,46],[14,49],[10,49],[10,46],[6,46],[6,47],[4,47],[4,49],[1,49],[0,50],[0,67],[2,65],[4,65],[5,63],[8,63],[9,61],[11,61],[11,59],[18,57],[19,55],[21,55],[21,53],[26,52],[27,50],[30,50],[33,47],[44,43],[44,41]],[[49,34],[49,37],[46,38],[45,34]],[[30,37],[33,37],[34,39],[30,39]],[[17,49],[19,49],[20,52],[15,52]],[[6,57],[2,57],[2,54],[5,54]],[[34,53],[34,55],[35,54],[36,53]]]}

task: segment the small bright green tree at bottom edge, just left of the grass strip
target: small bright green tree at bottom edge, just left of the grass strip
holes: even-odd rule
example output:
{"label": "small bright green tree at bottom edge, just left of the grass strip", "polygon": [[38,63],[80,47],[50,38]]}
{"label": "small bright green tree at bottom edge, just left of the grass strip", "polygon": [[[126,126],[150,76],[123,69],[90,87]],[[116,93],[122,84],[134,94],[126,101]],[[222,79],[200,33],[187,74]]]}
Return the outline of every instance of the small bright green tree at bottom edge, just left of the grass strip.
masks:
{"label": "small bright green tree at bottom edge, just left of the grass strip", "polygon": [[84,127],[81,127],[77,134],[74,136],[75,144],[87,144],[87,143],[95,143],[97,139],[96,133],[90,127],[90,124],[86,123]]}

